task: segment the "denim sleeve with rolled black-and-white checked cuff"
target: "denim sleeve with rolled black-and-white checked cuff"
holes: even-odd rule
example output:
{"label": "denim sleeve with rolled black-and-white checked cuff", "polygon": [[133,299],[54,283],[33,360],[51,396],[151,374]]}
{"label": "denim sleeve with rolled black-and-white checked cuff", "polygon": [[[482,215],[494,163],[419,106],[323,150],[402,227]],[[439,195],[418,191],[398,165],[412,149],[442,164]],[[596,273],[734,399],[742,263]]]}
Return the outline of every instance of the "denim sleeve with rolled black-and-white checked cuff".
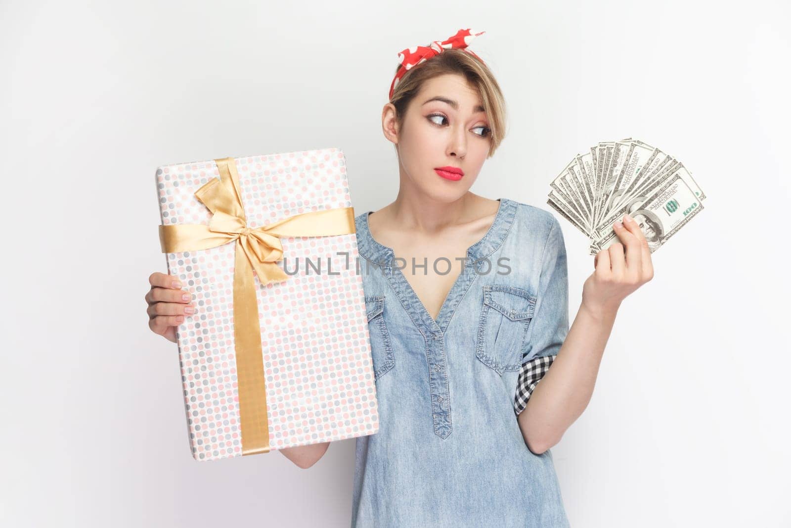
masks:
{"label": "denim sleeve with rolled black-and-white checked cuff", "polygon": [[530,395],[558,355],[569,333],[569,270],[566,243],[557,218],[552,218],[541,257],[536,308],[528,325],[522,368],[517,378],[513,408],[524,410]]}

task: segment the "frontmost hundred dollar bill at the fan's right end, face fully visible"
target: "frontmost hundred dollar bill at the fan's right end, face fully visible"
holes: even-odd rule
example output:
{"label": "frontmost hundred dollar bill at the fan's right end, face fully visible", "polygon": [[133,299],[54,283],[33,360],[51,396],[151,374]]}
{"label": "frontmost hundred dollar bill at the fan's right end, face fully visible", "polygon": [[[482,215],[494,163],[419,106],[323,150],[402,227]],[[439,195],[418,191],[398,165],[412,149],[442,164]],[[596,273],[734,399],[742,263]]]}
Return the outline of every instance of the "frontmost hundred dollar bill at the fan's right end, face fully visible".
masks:
{"label": "frontmost hundred dollar bill at the fan's right end, face fully visible", "polygon": [[[666,179],[664,184],[648,199],[633,205],[630,216],[638,222],[648,240],[651,253],[670,240],[703,209],[702,201],[698,196],[695,196],[694,191],[679,172]],[[607,249],[618,241],[618,235],[615,234],[615,230],[612,230],[595,242],[596,250],[592,250],[591,254]]]}

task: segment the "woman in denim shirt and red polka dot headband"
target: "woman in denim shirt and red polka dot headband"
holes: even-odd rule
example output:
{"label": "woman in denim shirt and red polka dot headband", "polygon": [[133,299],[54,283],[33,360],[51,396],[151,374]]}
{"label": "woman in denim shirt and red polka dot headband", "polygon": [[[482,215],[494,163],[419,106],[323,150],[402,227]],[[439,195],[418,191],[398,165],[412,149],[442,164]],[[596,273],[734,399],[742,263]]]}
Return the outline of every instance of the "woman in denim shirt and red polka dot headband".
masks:
{"label": "woman in denim shirt and red polka dot headband", "polygon": [[[588,405],[620,303],[653,276],[625,217],[569,327],[558,221],[469,191],[505,127],[472,36],[403,51],[382,112],[398,196],[355,218],[380,430],[357,439],[352,526],[568,526],[550,448]],[[151,275],[146,300],[175,341],[194,310],[173,279]],[[307,468],[328,445],[281,452]]]}

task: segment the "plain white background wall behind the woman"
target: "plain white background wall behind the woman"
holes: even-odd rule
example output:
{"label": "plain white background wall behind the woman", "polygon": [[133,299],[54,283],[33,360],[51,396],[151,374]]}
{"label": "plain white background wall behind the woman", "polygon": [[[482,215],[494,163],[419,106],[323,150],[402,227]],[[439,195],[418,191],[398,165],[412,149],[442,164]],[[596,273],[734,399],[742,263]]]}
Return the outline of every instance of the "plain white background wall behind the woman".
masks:
{"label": "plain white background wall behind the woman", "polygon": [[[165,271],[154,170],[337,146],[375,211],[398,52],[471,27],[509,105],[474,192],[550,209],[573,154],[632,136],[708,196],[553,448],[572,526],[791,526],[789,23],[761,0],[0,2],[0,523],[348,526],[354,440],[308,470],[192,459],[143,300]],[[593,264],[562,226],[573,317]]]}

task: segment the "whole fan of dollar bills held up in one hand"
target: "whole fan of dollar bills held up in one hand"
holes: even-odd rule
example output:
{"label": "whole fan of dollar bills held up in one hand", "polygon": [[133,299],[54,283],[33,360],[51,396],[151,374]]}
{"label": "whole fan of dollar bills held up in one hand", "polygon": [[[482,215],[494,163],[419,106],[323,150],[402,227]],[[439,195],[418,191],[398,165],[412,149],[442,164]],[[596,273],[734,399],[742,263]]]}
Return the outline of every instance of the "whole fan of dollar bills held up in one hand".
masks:
{"label": "whole fan of dollar bills held up in one hand", "polygon": [[591,240],[591,255],[619,242],[628,213],[651,253],[703,208],[706,195],[684,165],[637,139],[600,142],[577,154],[550,184],[547,203]]}

